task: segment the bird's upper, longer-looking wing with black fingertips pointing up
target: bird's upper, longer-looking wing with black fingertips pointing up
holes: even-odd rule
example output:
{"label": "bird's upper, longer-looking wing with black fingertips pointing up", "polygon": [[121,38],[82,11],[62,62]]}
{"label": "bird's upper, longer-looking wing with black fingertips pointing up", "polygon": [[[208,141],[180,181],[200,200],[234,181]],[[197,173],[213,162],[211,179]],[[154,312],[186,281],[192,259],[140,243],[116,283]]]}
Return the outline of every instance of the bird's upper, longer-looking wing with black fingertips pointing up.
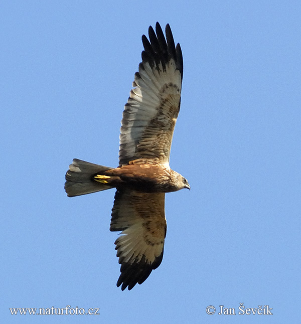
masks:
{"label": "bird's upper, longer-looking wing with black fingertips pointing up", "polygon": [[166,39],[159,23],[150,26],[149,41],[135,73],[121,120],[119,166],[137,158],[159,158],[169,163],[174,127],[180,110],[183,57],[180,44],[166,25]]}

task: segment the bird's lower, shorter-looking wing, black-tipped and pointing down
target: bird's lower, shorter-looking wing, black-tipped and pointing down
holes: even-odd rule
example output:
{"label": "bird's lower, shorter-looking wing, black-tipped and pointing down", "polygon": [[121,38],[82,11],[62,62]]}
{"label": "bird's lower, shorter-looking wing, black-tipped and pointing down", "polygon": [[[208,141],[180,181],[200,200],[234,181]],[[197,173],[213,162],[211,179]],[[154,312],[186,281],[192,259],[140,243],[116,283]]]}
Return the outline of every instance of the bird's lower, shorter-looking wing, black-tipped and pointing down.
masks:
{"label": "bird's lower, shorter-looking wing, black-tipped and pointing down", "polygon": [[121,290],[141,284],[161,264],[166,236],[164,201],[164,193],[116,191],[110,231],[122,231],[115,241]]}

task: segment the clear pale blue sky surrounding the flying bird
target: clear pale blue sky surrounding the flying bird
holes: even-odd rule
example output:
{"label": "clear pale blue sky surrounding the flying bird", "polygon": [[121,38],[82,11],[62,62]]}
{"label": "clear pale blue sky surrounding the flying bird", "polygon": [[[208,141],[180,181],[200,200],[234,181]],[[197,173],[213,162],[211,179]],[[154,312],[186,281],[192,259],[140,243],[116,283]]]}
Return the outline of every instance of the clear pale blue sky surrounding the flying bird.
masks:
{"label": "clear pale blue sky surrounding the flying bird", "polygon": [[[300,17],[299,1],[1,2],[2,322],[299,323]],[[74,157],[117,166],[157,21],[183,50],[171,167],[191,191],[167,194],[163,262],[122,292],[114,191],[67,198],[64,176]],[[100,315],[9,310],[66,305]]]}

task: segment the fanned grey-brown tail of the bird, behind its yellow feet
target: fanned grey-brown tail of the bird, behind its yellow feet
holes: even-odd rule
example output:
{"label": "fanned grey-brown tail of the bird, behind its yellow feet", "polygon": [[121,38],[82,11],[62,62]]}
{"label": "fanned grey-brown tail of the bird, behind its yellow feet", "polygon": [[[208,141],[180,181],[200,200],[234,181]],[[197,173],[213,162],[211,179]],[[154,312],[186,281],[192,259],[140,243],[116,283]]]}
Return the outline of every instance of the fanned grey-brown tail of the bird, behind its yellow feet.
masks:
{"label": "fanned grey-brown tail of the bird, behind its yellow feet", "polygon": [[65,191],[68,197],[80,196],[110,189],[105,183],[96,182],[93,175],[113,168],[74,158],[66,173]]}

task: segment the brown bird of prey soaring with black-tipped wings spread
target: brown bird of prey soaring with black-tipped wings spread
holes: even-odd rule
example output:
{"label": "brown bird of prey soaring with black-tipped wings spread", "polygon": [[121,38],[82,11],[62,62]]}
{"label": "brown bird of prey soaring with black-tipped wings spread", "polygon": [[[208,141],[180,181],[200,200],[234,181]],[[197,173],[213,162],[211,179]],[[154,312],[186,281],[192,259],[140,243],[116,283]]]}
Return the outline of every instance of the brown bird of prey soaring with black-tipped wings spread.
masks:
{"label": "brown bird of prey soaring with black-tipped wings spread", "polygon": [[115,241],[120,276],[117,287],[141,284],[158,268],[166,236],[165,193],[190,189],[188,181],[169,166],[170,150],[180,110],[183,57],[169,25],[166,38],[156,32],[142,36],[144,50],[124,106],[119,166],[108,168],[73,159],[66,173],[68,197],[116,188],[110,231]]}

